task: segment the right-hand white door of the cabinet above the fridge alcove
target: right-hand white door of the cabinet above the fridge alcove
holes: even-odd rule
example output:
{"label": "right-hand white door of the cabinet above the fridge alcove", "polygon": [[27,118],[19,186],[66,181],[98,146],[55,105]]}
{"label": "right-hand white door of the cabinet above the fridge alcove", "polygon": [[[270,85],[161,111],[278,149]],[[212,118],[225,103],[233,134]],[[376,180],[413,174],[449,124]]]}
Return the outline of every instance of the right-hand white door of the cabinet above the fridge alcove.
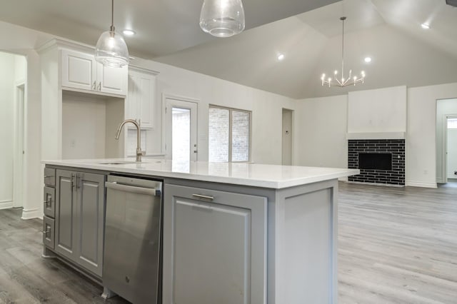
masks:
{"label": "right-hand white door of the cabinet above the fridge alcove", "polygon": [[97,63],[97,90],[104,93],[126,95],[128,66],[110,68]]}

